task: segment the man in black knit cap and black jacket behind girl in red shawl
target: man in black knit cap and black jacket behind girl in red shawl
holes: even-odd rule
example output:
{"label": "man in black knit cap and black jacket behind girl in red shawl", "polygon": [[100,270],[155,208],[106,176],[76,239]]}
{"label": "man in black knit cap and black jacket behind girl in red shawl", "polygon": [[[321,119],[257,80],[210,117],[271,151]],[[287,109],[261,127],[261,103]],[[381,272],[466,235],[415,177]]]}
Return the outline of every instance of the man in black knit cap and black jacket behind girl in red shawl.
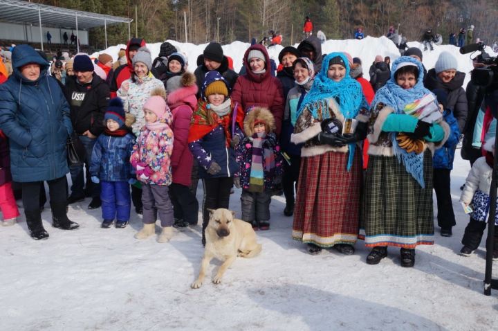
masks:
{"label": "man in black knit cap and black jacket behind girl in red shawl", "polygon": [[223,55],[223,48],[221,48],[221,44],[217,42],[210,42],[208,46],[204,48],[201,60],[202,64],[194,71],[197,87],[199,87],[197,98],[201,98],[204,77],[208,71],[218,71],[228,82],[230,90],[234,87],[239,75],[237,75],[237,73],[232,69],[228,68],[228,59],[225,55]]}

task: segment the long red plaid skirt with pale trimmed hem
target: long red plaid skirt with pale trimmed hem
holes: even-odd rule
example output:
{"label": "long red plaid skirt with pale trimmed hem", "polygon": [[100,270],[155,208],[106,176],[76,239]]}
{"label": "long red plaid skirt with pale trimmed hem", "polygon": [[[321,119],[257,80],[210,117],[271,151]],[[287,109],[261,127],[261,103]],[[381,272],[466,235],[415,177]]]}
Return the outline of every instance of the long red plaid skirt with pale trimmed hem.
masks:
{"label": "long red plaid skirt with pale trimmed hem", "polygon": [[293,238],[320,247],[354,244],[358,239],[362,153],[351,170],[340,152],[302,157],[294,208]]}

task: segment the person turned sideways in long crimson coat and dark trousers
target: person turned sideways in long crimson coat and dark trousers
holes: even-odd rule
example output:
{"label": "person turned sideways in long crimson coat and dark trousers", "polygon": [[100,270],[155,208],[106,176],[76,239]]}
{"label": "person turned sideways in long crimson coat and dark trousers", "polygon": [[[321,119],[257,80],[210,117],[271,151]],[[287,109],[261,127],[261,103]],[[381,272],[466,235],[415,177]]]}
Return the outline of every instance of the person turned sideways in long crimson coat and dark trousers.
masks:
{"label": "person turned sideways in long crimson coat and dark trousers", "polygon": [[166,89],[167,104],[173,114],[171,128],[174,135],[171,156],[173,183],[169,186],[169,197],[174,211],[173,226],[185,228],[197,224],[199,213],[199,202],[189,188],[194,156],[187,143],[190,120],[197,105],[195,75],[185,72],[181,76],[169,78]]}

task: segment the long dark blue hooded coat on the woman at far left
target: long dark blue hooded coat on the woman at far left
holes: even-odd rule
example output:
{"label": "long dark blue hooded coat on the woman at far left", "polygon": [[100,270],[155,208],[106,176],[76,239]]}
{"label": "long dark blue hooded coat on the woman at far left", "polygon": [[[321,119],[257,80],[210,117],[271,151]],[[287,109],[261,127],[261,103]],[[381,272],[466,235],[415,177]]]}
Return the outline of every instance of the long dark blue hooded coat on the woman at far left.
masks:
{"label": "long dark blue hooded coat on the woman at far left", "polygon": [[[40,65],[35,81],[20,68]],[[14,73],[0,85],[0,129],[10,142],[12,178],[19,182],[48,181],[67,174],[66,140],[73,132],[69,105],[55,78],[47,75],[48,62],[32,47],[12,52]]]}

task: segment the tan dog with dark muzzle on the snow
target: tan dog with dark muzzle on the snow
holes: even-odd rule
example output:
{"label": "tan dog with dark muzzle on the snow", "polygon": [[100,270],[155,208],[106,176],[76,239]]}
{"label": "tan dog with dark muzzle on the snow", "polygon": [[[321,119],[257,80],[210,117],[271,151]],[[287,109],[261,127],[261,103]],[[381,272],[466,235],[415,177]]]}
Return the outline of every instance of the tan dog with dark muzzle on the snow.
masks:
{"label": "tan dog with dark muzzle on the snow", "polygon": [[261,244],[256,242],[256,233],[248,222],[234,218],[234,212],[225,208],[209,209],[209,212],[210,220],[205,229],[204,257],[199,277],[191,285],[193,289],[202,286],[212,258],[224,261],[212,280],[214,284],[219,284],[226,269],[232,265],[237,256],[253,258],[261,251]]}

